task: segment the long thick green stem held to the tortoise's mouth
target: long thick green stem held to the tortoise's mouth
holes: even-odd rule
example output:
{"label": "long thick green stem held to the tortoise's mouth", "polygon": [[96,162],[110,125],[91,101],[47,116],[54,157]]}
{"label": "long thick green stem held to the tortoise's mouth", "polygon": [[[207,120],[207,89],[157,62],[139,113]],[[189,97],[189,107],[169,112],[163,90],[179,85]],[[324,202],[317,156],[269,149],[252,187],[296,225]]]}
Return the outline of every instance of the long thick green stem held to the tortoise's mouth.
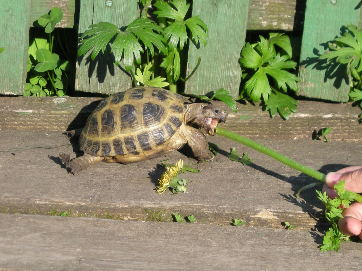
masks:
{"label": "long thick green stem held to the tortoise's mouth", "polygon": [[314,169],[308,168],[302,164],[299,164],[297,162],[295,162],[294,160],[279,154],[276,151],[273,151],[255,141],[252,141],[251,139],[248,139],[246,137],[240,136],[238,134],[235,134],[233,132],[230,132],[226,129],[223,128],[219,128],[216,127],[215,128],[215,133],[217,133],[219,136],[224,136],[227,138],[232,139],[233,141],[239,142],[245,146],[251,147],[254,150],[260,151],[266,155],[269,155],[271,158],[274,158],[276,160],[278,160],[279,162],[282,162],[283,164],[288,165],[291,168],[294,168],[300,172],[303,172],[313,178],[316,178],[319,181],[324,182],[325,181],[325,175],[319,171],[315,171]]}

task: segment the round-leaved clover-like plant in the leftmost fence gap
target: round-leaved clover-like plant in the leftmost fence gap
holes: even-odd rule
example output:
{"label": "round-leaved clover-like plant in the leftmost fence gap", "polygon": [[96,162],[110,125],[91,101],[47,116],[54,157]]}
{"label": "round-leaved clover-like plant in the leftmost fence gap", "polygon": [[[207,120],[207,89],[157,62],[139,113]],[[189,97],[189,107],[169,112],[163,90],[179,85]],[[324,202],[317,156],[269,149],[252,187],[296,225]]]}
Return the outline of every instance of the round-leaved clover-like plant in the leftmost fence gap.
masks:
{"label": "round-leaved clover-like plant in the leftmost fence gap", "polygon": [[53,53],[54,29],[63,18],[60,8],[52,8],[49,14],[39,17],[37,22],[44,28],[48,39],[35,38],[29,46],[27,80],[24,96],[64,96],[67,92],[69,61],[61,60]]}

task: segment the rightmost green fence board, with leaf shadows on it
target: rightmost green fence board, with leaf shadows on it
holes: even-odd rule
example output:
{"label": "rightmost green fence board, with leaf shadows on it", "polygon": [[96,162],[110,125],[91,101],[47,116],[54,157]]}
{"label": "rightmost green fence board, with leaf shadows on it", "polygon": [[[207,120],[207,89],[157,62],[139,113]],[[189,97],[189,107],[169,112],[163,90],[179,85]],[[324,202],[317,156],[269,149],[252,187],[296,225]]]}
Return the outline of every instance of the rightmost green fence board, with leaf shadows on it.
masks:
{"label": "rightmost green fence board, with leaf shadows on it", "polygon": [[326,74],[326,69],[321,69],[316,61],[327,50],[321,44],[339,35],[343,25],[358,25],[360,10],[355,7],[355,1],[307,1],[299,63],[299,95],[336,102],[348,101],[350,87],[346,70],[341,67],[333,74]]}

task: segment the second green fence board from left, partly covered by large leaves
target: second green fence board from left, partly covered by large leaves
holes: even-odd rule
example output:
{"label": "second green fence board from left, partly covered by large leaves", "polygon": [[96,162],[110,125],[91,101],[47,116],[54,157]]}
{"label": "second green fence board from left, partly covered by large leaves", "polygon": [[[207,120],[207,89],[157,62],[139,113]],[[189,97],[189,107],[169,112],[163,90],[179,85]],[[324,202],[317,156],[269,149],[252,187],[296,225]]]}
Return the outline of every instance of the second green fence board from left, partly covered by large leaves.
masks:
{"label": "second green fence board from left, partly covered by large leaves", "polygon": [[[127,26],[138,16],[137,0],[111,1],[108,7],[106,1],[85,0],[80,3],[79,36],[93,23],[110,22],[118,27]],[[122,66],[122,62],[120,63]],[[125,90],[131,86],[128,73],[114,64],[110,50],[106,56],[100,53],[90,60],[90,52],[77,61],[75,89],[111,94]]]}

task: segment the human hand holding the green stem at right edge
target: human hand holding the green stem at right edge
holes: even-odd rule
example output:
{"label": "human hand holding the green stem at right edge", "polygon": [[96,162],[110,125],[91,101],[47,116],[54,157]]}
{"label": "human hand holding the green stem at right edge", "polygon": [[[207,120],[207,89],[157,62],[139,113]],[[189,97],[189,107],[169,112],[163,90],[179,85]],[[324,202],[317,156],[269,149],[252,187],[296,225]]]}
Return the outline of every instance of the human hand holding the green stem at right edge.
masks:
{"label": "human hand holding the green stem at right edge", "polygon": [[[333,189],[339,181],[345,180],[344,188],[356,193],[362,192],[362,166],[342,168],[336,172],[329,172],[325,176],[322,193],[326,192],[330,198],[337,197]],[[338,227],[345,235],[358,235],[362,240],[362,203],[354,202],[342,212],[343,218],[338,220]]]}

